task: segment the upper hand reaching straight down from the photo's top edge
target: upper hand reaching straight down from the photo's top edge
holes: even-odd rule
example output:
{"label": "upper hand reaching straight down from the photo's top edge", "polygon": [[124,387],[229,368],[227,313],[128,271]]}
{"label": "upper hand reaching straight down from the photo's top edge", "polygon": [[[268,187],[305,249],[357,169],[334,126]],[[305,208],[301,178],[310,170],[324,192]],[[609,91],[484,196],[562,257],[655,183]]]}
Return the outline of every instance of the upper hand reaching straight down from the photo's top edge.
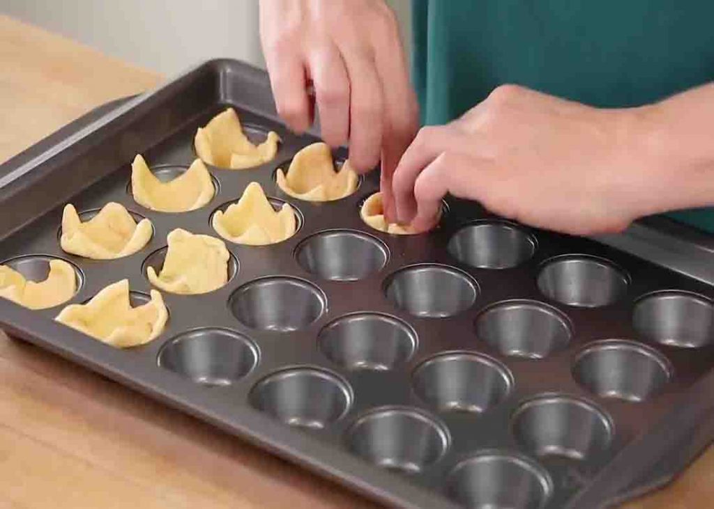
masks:
{"label": "upper hand reaching straight down from the photo's top edge", "polygon": [[381,156],[382,190],[391,190],[391,174],[418,129],[393,11],[383,0],[261,0],[260,19],[283,120],[297,133],[310,126],[313,83],[323,140],[349,143],[350,163],[361,173]]}

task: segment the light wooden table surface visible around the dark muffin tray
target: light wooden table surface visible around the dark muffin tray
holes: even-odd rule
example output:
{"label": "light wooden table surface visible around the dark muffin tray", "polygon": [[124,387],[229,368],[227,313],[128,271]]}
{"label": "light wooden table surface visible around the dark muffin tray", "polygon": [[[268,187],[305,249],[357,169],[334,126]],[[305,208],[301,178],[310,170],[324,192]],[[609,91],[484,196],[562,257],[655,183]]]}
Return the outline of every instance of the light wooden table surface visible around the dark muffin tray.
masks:
{"label": "light wooden table surface visible around the dark muffin tray", "polygon": [[[0,161],[161,77],[0,16]],[[714,450],[629,509],[714,505]],[[0,331],[0,508],[376,508]]]}

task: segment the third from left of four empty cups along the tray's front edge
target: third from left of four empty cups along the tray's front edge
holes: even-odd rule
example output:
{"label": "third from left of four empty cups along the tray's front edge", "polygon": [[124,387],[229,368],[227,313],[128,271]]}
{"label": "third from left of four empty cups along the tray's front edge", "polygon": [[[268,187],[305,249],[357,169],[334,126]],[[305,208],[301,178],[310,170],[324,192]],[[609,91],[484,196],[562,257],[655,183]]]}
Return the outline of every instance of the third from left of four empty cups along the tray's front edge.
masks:
{"label": "third from left of four empty cups along the tray's front edge", "polygon": [[357,456],[381,468],[408,474],[436,463],[448,444],[445,426],[411,408],[371,411],[347,433],[348,448]]}

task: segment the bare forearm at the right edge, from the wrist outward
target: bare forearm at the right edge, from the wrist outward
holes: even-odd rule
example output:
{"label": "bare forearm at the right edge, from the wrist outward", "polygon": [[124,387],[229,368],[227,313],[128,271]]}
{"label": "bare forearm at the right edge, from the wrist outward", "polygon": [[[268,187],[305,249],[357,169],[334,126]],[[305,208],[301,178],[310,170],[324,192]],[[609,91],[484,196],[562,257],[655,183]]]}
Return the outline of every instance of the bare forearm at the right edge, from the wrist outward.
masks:
{"label": "bare forearm at the right edge, from the wrist outward", "polygon": [[633,110],[642,215],[714,206],[714,83]]}

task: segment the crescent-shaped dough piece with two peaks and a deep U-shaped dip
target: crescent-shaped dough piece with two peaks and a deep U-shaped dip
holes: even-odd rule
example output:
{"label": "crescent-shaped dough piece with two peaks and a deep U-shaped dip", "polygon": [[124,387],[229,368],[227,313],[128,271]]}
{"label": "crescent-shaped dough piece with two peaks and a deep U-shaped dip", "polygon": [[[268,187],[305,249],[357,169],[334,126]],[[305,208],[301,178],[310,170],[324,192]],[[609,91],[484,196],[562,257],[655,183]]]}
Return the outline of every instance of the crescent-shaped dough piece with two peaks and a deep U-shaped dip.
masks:
{"label": "crescent-shaped dough piece with two peaks and a deep U-shaped dip", "polygon": [[203,207],[216,192],[203,161],[196,159],[186,172],[161,182],[140,154],[131,163],[131,194],[139,205],[160,212],[187,212]]}

